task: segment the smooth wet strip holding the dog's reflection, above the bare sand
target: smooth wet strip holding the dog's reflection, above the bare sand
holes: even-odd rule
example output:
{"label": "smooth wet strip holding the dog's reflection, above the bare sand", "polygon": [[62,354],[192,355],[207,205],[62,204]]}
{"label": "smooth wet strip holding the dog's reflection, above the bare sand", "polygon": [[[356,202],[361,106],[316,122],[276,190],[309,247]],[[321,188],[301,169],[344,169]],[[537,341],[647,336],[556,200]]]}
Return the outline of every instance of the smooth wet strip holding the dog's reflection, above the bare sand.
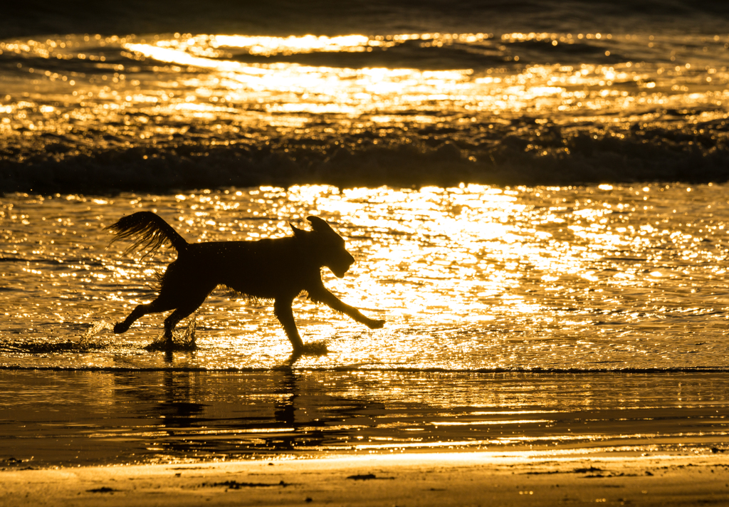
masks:
{"label": "smooth wet strip holding the dog's reflection, above the bare sand", "polygon": [[6,371],[1,458],[49,466],[418,449],[703,452],[728,445],[725,381],[724,374]]}

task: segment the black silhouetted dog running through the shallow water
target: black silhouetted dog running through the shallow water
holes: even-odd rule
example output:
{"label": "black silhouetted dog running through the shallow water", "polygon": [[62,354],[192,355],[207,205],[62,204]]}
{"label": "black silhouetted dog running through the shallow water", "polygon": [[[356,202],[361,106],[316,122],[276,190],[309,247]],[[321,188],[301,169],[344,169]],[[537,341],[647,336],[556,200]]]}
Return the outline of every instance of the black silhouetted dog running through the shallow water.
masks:
{"label": "black silhouetted dog running through the shallow water", "polygon": [[338,278],[344,276],[354,258],[344,248],[344,240],[319,217],[308,217],[313,231],[291,226],[294,236],[259,241],[211,241],[188,243],[161,217],[152,212],[138,212],[122,217],[108,228],[116,233],[112,243],[131,239],[127,249],[154,252],[171,244],[177,259],[158,276],[160,295],[149,304],[141,304],[124,322],[114,325],[114,333],[124,333],[132,323],[146,314],[174,310],[165,319],[165,338],[172,341],[177,323],[192,314],[218,285],[253,298],[273,299],[276,317],[284,326],[294,352],[302,352],[291,308],[302,292],[317,303],[324,303],[361,322],[370,329],[381,328],[384,320],[373,320],[353,306],[340,301],[321,282],[321,268],[326,266]]}

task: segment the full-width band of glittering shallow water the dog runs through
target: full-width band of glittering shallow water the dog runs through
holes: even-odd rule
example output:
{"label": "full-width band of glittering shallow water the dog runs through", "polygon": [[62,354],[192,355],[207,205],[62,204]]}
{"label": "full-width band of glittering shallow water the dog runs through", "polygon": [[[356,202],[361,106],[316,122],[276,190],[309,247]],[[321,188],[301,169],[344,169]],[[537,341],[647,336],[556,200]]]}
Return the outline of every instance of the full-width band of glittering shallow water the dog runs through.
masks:
{"label": "full-width band of glittering shallow water the dog runs through", "polygon": [[[296,368],[423,371],[729,368],[725,185],[421,190],[261,187],[177,196],[15,195],[4,234],[0,364],[20,368],[249,370],[286,365],[268,303],[211,295],[197,349],[147,352],[162,315],[109,325],[149,301],[155,258],[107,248],[104,227],[159,212],[189,241],[289,234],[320,214],[357,263],[324,282],[382,330],[300,298]],[[182,322],[184,330],[190,322]],[[95,326],[95,328],[94,328]],[[82,338],[84,338],[82,340]]]}

